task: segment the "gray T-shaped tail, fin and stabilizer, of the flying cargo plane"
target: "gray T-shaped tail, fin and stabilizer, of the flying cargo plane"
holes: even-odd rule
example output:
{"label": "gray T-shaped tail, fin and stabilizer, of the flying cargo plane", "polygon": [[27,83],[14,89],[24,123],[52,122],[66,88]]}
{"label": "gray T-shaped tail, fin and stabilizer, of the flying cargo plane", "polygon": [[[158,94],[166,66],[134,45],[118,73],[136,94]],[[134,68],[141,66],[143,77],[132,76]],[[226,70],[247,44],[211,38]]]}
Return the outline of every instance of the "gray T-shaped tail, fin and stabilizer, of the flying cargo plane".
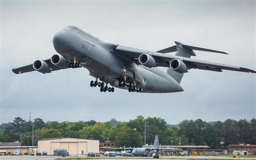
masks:
{"label": "gray T-shaped tail, fin and stabilizer, of the flying cargo plane", "polygon": [[[200,51],[205,51],[205,52],[214,52],[214,53],[227,54],[225,52],[221,52],[221,51],[218,51],[218,50],[212,50],[212,49],[206,49],[206,48],[184,45],[183,43],[180,43],[180,42],[177,42],[177,41],[175,41],[175,43],[176,43],[175,46],[165,48],[165,49],[159,50],[157,52],[159,52],[159,53],[176,52],[175,55],[181,56],[181,57],[187,57],[187,58],[190,58],[191,56],[196,56],[196,54],[194,53],[193,50],[200,50]],[[173,65],[177,66],[177,67],[179,66],[179,64],[175,64],[175,63],[173,63]],[[174,78],[178,83],[180,83],[180,81],[181,81],[181,79],[184,75],[184,73],[179,73],[177,71],[174,71],[172,68],[168,68],[166,72],[167,72],[167,74],[172,76],[172,78]]]}

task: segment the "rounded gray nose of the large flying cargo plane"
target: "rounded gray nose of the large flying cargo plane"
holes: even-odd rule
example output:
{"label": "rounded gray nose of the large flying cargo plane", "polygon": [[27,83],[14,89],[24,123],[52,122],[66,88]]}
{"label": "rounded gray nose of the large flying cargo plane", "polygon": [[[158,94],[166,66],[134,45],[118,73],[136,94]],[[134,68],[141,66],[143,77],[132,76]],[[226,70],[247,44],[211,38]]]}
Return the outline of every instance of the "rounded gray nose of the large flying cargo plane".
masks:
{"label": "rounded gray nose of the large flying cargo plane", "polygon": [[56,51],[69,52],[74,50],[70,36],[65,31],[57,32],[53,37],[53,46]]}

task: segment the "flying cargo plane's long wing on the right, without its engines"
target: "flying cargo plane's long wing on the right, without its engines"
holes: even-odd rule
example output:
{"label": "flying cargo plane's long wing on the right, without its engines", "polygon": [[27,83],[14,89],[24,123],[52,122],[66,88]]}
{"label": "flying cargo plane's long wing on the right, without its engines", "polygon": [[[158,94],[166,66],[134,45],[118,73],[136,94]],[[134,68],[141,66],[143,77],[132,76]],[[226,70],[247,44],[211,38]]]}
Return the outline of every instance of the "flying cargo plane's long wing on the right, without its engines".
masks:
{"label": "flying cargo plane's long wing on the right, without its engines", "polygon": [[227,64],[220,64],[215,62],[207,62],[207,61],[201,61],[196,59],[190,59],[187,57],[181,57],[176,55],[170,55],[170,54],[163,54],[163,53],[157,53],[157,52],[150,52],[147,50],[142,49],[136,49],[136,48],[130,48],[125,46],[117,46],[116,48],[118,54],[123,54],[126,57],[134,60],[134,62],[138,63],[138,57],[140,54],[149,54],[151,55],[154,60],[157,62],[157,66],[159,67],[170,67],[170,61],[173,59],[182,60],[188,69],[202,69],[202,70],[211,70],[211,71],[222,71],[222,70],[232,70],[232,71],[241,71],[241,72],[253,72],[256,73],[256,71],[252,69],[247,69],[244,67],[237,67],[237,66],[230,66]]}

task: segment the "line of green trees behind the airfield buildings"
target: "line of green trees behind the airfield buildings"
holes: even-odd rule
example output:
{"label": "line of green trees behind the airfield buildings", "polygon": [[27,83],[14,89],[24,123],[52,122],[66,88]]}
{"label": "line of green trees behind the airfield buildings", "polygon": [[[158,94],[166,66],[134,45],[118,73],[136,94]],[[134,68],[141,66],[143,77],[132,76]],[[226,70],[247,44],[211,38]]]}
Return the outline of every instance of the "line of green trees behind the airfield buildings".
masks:
{"label": "line of green trees behind the airfield buildings", "polygon": [[[111,119],[107,122],[44,122],[36,118],[34,126],[34,146],[41,139],[70,137],[93,139],[100,142],[111,141],[116,147],[142,147],[146,125],[146,143],[152,144],[159,135],[161,145],[206,145],[213,149],[227,148],[228,144],[256,144],[256,119],[239,121],[227,119],[224,122],[206,122],[201,119],[184,120],[178,125],[169,125],[164,119],[138,116],[129,122]],[[22,145],[32,146],[32,122],[17,117],[0,125],[0,142],[15,142],[22,137]]]}

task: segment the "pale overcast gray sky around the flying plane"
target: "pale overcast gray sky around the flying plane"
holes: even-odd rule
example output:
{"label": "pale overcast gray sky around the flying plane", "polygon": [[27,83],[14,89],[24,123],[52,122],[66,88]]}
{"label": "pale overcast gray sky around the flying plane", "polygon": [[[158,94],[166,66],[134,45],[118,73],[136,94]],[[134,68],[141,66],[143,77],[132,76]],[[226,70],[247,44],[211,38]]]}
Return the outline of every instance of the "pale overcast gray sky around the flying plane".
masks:
{"label": "pale overcast gray sky around the flying plane", "polygon": [[56,54],[53,35],[75,25],[119,45],[156,51],[180,41],[229,55],[195,51],[193,59],[256,70],[255,1],[1,1],[0,123],[119,121],[137,115],[205,121],[255,118],[256,74],[190,70],[179,93],[102,93],[85,68],[15,75],[11,69]]}

